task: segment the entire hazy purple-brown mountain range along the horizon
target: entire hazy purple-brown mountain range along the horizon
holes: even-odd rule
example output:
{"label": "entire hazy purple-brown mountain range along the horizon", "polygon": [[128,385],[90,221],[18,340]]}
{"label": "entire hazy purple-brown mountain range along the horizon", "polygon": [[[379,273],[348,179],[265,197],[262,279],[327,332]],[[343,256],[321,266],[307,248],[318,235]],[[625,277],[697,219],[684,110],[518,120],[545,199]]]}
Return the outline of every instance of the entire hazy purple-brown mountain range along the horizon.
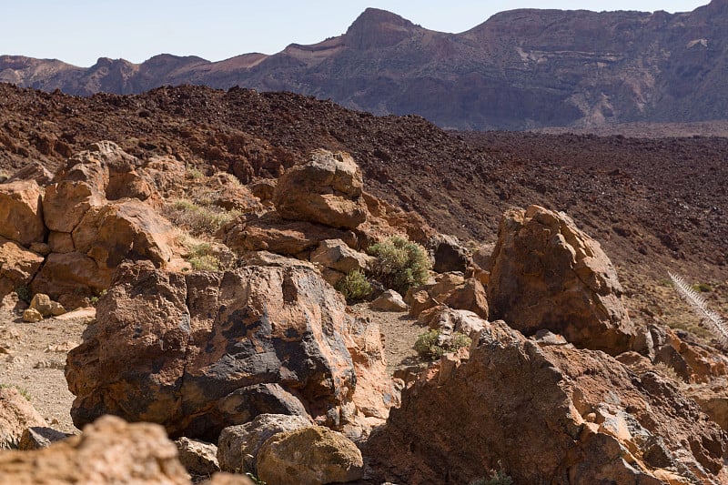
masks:
{"label": "entire hazy purple-brown mountain range along the horizon", "polygon": [[344,35],[216,63],[155,56],[80,68],[0,57],[0,81],[75,95],[245,86],[460,129],[728,117],[728,0],[691,13],[512,10],[461,34],[369,8]]}

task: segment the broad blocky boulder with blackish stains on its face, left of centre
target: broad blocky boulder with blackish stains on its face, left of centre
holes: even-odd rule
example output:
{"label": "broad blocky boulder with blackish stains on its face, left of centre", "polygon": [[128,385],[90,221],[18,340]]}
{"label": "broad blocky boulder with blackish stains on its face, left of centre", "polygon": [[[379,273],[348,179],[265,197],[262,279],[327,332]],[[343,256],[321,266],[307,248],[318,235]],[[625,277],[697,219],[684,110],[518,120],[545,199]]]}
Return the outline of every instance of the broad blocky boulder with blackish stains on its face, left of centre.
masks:
{"label": "broad blocky boulder with blackish stains on its face, left of centre", "polygon": [[343,426],[356,413],[349,318],[310,268],[122,265],[68,355],[71,415],[77,426],[111,413],[209,441],[281,409]]}

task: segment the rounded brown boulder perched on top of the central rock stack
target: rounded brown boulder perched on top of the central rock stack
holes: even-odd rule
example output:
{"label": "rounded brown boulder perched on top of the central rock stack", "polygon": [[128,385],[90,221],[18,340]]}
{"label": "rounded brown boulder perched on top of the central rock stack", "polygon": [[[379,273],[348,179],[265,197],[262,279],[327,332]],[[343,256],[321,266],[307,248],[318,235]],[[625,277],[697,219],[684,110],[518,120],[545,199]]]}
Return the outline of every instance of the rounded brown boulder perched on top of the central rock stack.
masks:
{"label": "rounded brown boulder perched on top of the central rock stack", "polygon": [[273,200],[281,217],[351,229],[367,218],[362,186],[349,154],[316,150],[278,178]]}

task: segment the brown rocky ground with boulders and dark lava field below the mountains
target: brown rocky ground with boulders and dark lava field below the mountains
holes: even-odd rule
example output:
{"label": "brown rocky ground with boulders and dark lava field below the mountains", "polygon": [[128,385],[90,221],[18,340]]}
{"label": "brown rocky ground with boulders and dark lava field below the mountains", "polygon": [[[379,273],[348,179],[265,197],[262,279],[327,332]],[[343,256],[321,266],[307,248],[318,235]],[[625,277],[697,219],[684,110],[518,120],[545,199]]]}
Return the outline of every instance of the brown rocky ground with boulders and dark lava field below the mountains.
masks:
{"label": "brown rocky ground with boulders and dark lava field below the mountains", "polygon": [[[725,314],[725,138],[0,89],[0,477],[728,480],[728,358],[666,282]],[[433,263],[400,296],[390,237]]]}

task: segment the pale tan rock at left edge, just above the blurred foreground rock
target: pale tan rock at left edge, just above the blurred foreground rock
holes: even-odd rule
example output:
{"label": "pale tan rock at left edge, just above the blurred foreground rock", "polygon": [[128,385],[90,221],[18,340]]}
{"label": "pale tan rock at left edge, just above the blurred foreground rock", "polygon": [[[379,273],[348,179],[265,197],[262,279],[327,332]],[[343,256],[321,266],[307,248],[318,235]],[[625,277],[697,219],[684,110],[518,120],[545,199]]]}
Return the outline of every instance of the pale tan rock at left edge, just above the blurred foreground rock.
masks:
{"label": "pale tan rock at left edge, just above the blurred foreground rock", "polygon": [[33,426],[45,426],[45,419],[28,399],[14,387],[0,388],[0,450],[15,448],[25,429]]}

